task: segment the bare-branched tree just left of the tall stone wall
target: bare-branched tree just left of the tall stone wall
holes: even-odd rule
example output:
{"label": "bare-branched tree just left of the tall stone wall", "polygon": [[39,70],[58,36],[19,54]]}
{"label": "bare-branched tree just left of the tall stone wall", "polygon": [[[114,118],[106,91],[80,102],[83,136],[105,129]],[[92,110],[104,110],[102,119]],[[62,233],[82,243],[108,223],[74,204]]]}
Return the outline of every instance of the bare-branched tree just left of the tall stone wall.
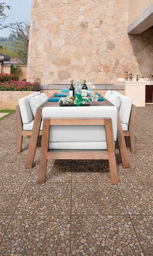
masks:
{"label": "bare-branched tree just left of the tall stone wall", "polygon": [[23,63],[27,63],[29,48],[29,23],[21,21],[10,24],[11,36],[14,38],[12,44],[16,55]]}

